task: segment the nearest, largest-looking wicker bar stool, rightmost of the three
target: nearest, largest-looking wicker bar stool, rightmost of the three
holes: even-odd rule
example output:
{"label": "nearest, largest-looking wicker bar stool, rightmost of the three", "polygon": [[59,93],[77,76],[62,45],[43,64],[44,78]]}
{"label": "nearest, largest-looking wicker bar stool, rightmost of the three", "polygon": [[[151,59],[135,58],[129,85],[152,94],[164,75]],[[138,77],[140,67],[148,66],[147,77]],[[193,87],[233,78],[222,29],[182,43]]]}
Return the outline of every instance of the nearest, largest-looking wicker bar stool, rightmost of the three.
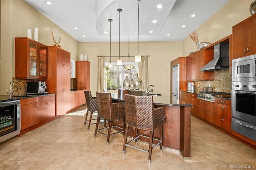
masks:
{"label": "nearest, largest-looking wicker bar stool, rightmost of the three", "polygon": [[[160,152],[162,152],[162,128],[165,122],[164,107],[154,108],[152,96],[134,96],[125,94],[125,117],[126,128],[124,135],[123,154],[125,153],[126,146],[135,148],[144,152],[148,152],[148,164],[151,163],[152,149],[157,145],[160,145]],[[127,142],[128,128],[134,127],[136,130],[136,137]],[[154,130],[159,127],[160,138],[153,138]],[[149,130],[150,136],[138,135],[138,129]],[[135,144],[138,144],[137,139],[143,136],[149,138],[149,150],[130,145],[135,140]],[[158,141],[153,146],[153,140]]]}

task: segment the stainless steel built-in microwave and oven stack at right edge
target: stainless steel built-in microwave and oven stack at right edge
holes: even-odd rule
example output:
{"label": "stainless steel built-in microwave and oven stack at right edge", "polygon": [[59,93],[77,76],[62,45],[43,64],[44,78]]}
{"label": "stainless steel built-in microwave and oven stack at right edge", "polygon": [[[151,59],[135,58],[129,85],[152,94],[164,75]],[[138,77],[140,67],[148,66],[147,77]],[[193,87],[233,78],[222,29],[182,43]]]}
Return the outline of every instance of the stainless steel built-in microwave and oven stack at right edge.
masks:
{"label": "stainless steel built-in microwave and oven stack at right edge", "polygon": [[232,60],[232,130],[256,141],[256,55]]}

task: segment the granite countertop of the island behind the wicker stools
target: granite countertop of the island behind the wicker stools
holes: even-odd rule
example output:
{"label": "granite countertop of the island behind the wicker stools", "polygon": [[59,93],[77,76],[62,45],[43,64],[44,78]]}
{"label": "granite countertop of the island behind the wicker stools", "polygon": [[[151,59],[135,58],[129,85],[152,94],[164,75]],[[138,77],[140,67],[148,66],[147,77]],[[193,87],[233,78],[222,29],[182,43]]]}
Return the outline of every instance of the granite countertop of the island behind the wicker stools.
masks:
{"label": "granite countertop of the island behind the wicker stools", "polygon": [[[124,101],[124,99],[121,98],[112,98],[113,100],[116,101]],[[171,99],[170,96],[153,96],[153,102],[154,105],[165,105],[165,106],[192,106],[192,104],[172,98],[172,103],[171,103]]]}

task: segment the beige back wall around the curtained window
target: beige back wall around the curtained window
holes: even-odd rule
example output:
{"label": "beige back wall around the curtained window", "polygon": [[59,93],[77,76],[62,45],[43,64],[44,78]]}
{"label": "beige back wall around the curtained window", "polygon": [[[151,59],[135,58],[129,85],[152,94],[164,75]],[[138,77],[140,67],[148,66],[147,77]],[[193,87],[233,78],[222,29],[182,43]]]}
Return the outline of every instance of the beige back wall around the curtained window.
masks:
{"label": "beige back wall around the curtained window", "polygon": [[[111,55],[118,55],[118,42],[111,43]],[[92,94],[97,91],[97,55],[110,55],[110,45],[106,43],[79,43],[79,53],[87,54],[91,63],[90,81]],[[154,85],[154,91],[164,95],[170,95],[170,61],[179,57],[182,53],[182,42],[139,42],[139,54],[150,55],[148,58],[149,83]],[[137,54],[137,42],[130,42],[130,55]],[[120,43],[120,55],[128,55],[128,43]],[[118,57],[111,57],[116,62]],[[128,57],[123,57],[128,61]],[[106,62],[110,57],[106,57]],[[134,62],[134,57],[130,57]]]}

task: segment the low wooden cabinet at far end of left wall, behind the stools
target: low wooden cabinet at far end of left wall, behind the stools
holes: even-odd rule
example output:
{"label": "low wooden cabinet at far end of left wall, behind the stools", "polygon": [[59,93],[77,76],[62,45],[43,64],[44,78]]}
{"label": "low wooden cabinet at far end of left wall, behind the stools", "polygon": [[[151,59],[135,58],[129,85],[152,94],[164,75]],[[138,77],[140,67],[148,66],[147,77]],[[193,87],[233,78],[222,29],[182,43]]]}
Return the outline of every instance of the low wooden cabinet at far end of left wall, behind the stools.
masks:
{"label": "low wooden cabinet at far end of left wall, behind the stools", "polygon": [[86,103],[84,90],[71,91],[70,109],[74,109]]}

